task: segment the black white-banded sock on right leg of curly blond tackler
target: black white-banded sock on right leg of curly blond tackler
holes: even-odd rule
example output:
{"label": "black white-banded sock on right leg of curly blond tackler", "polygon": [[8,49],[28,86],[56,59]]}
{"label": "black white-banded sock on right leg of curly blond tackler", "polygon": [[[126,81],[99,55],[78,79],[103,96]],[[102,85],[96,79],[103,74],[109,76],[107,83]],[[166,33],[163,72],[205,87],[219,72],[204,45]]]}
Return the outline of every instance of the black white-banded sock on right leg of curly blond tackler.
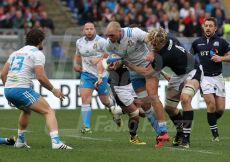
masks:
{"label": "black white-banded sock on right leg of curly blond tackler", "polygon": [[190,142],[190,133],[192,130],[193,111],[183,111],[183,134],[185,139]]}

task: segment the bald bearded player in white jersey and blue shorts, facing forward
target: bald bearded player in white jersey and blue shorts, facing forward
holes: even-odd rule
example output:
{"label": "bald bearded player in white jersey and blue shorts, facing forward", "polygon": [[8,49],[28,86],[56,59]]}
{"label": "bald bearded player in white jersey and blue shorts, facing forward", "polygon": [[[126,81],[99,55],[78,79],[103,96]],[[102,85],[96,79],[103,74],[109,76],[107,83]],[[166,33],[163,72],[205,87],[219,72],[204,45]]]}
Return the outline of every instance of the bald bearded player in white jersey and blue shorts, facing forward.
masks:
{"label": "bald bearded player in white jersey and blue shorts, facing forward", "polygon": [[[76,55],[74,61],[74,70],[81,72],[80,76],[80,96],[82,98],[81,115],[83,127],[81,133],[92,133],[90,127],[91,116],[91,100],[92,93],[97,87],[102,103],[113,109],[115,106],[114,101],[109,97],[108,87],[108,74],[106,71],[98,73],[98,62],[106,56],[103,51],[106,45],[106,40],[96,34],[96,29],[93,23],[88,22],[83,28],[84,36],[76,42]],[[121,125],[121,119],[119,116],[114,115],[114,121],[118,126]]]}

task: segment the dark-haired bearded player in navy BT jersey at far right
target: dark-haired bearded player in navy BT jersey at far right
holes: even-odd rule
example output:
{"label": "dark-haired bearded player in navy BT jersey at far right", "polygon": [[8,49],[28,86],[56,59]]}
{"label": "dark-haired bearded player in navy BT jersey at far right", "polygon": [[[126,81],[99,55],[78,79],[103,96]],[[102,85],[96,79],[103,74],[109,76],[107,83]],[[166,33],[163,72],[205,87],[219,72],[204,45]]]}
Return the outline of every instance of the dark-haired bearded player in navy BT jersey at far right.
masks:
{"label": "dark-haired bearded player in navy BT jersey at far right", "polygon": [[192,43],[192,53],[198,55],[203,66],[204,77],[201,91],[207,105],[207,120],[212,140],[219,142],[217,120],[225,110],[225,81],[222,75],[222,62],[230,61],[230,45],[217,36],[217,21],[210,17],[203,24],[204,36]]}

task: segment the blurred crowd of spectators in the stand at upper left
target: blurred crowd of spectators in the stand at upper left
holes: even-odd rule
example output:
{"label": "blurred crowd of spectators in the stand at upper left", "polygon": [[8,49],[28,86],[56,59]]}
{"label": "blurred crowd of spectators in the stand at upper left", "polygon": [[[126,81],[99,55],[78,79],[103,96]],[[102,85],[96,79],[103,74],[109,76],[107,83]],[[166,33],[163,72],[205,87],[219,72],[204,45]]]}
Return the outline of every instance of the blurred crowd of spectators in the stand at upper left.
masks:
{"label": "blurred crowd of spectators in the stand at upper left", "polygon": [[28,31],[34,26],[54,31],[53,21],[39,0],[0,0],[0,28],[24,28]]}

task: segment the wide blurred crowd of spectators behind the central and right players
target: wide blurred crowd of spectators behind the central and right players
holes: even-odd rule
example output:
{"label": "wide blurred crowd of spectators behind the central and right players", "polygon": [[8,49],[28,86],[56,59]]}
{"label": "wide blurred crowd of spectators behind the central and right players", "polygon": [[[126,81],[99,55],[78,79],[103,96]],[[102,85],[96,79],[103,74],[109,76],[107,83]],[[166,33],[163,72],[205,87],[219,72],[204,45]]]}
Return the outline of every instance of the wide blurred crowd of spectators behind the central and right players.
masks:
{"label": "wide blurred crowd of spectators behind the central and right players", "polygon": [[105,26],[113,20],[123,27],[136,24],[145,30],[162,26],[175,36],[199,36],[198,26],[213,14],[222,34],[225,21],[218,0],[75,0],[75,6],[79,25],[90,19]]}

